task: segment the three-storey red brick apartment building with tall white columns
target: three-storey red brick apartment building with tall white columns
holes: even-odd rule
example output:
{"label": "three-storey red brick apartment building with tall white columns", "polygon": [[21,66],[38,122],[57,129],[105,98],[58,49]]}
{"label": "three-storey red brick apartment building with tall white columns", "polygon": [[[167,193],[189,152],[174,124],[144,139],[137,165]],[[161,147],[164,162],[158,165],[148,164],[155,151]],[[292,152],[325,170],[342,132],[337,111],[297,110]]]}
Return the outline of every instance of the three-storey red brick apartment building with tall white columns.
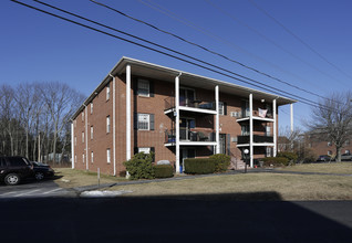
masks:
{"label": "three-storey red brick apartment building with tall white columns", "polygon": [[180,171],[185,158],[276,156],[278,106],[296,101],[122,57],[76,110],[72,167],[118,176],[134,154],[155,152]]}

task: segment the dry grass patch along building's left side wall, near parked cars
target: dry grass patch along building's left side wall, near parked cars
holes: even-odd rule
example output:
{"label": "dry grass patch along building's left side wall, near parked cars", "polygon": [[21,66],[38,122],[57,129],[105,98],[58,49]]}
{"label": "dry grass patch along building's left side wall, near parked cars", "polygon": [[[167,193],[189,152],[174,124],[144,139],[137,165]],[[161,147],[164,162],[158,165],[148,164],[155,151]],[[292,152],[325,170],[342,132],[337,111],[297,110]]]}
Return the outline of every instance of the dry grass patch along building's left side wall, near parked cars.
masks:
{"label": "dry grass patch along building's left side wall, near parked cars", "polygon": [[[71,168],[55,168],[55,175],[59,177],[55,180],[55,183],[62,188],[76,188],[97,184],[97,173],[95,172],[73,170]],[[101,175],[101,183],[114,183],[118,181],[126,181],[126,179]]]}

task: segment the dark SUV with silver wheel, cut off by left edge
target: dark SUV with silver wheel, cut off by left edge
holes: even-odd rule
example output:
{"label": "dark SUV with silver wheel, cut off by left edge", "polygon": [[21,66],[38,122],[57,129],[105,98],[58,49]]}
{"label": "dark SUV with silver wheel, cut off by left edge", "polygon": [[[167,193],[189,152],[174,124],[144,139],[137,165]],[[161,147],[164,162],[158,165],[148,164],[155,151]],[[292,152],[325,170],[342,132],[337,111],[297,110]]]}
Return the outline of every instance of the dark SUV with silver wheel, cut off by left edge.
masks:
{"label": "dark SUV with silver wheel, cut off by left edge", "polygon": [[24,157],[0,157],[0,180],[14,186],[34,175],[33,165]]}

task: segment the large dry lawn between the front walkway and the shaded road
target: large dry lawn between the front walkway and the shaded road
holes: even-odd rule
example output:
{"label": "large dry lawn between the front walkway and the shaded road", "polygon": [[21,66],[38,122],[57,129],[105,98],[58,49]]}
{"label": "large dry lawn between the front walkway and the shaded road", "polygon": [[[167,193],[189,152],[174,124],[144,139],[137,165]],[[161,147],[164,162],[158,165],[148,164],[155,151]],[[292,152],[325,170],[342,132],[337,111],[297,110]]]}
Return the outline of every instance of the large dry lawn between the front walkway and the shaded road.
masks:
{"label": "large dry lawn between the front walkway and the shaded road", "polygon": [[[180,181],[152,182],[113,187],[112,190],[130,190],[124,197],[200,196],[224,194],[239,200],[251,200],[251,193],[275,192],[282,200],[351,200],[352,178],[338,176],[299,176],[277,173],[248,173],[206,177]],[[258,200],[256,198],[256,200]],[[270,199],[263,199],[270,200]],[[275,199],[272,199],[275,200]]]}

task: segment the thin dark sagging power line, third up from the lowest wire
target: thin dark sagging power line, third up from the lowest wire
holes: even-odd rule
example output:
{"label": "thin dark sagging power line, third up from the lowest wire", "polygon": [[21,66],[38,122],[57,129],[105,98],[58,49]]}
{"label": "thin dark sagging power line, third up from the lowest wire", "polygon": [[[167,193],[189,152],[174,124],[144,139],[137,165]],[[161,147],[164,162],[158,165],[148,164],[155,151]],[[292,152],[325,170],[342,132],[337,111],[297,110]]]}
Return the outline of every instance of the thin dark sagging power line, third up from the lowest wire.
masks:
{"label": "thin dark sagging power line, third up from the lowest wire", "polygon": [[[37,1],[37,0],[34,0],[34,1]],[[152,29],[154,29],[154,30],[156,30],[156,31],[159,31],[159,32],[163,32],[163,33],[165,33],[165,34],[172,35],[172,36],[174,36],[174,38],[176,38],[176,39],[178,39],[178,40],[180,40],[180,41],[183,41],[183,42],[186,42],[186,43],[188,43],[188,44],[195,45],[195,46],[197,46],[197,47],[199,47],[199,49],[201,49],[201,50],[204,50],[204,51],[206,51],[206,52],[209,52],[209,53],[211,53],[211,54],[214,54],[214,55],[218,55],[218,56],[220,56],[220,57],[222,57],[222,59],[225,59],[225,60],[227,60],[227,61],[230,61],[230,62],[232,62],[232,63],[236,63],[236,64],[238,64],[238,65],[240,65],[240,66],[242,66],[242,67],[245,67],[245,68],[251,70],[251,71],[253,71],[253,72],[256,72],[256,73],[258,73],[258,74],[261,74],[261,75],[263,75],[263,76],[267,76],[267,77],[269,77],[269,78],[271,78],[271,80],[278,81],[278,82],[280,82],[280,83],[282,83],[282,84],[286,84],[286,85],[288,85],[288,86],[290,86],[290,87],[293,87],[293,88],[297,88],[297,89],[299,89],[299,91],[306,92],[306,93],[308,93],[308,94],[314,95],[314,96],[317,96],[317,97],[320,97],[320,98],[323,98],[323,99],[329,99],[329,98],[327,98],[327,97],[324,97],[324,96],[321,96],[321,95],[319,95],[319,94],[317,94],[317,93],[313,93],[313,92],[311,92],[311,91],[307,91],[307,89],[301,88],[301,87],[299,87],[299,86],[292,85],[292,84],[290,84],[290,83],[288,83],[288,82],[286,82],[286,81],[282,81],[282,80],[280,80],[280,78],[278,78],[278,77],[275,77],[275,76],[272,76],[272,75],[270,75],[270,74],[263,73],[263,72],[261,72],[261,71],[259,71],[259,70],[257,70],[257,68],[255,68],[255,67],[248,66],[248,65],[246,65],[246,64],[244,64],[244,63],[241,63],[241,62],[238,62],[238,61],[236,61],[236,60],[232,60],[232,59],[230,59],[230,57],[228,57],[228,56],[226,56],[226,55],[224,55],[224,54],[220,54],[220,53],[218,53],[218,52],[211,51],[211,50],[209,50],[208,47],[205,47],[205,46],[199,45],[199,44],[197,44],[197,43],[195,43],[195,42],[188,41],[188,40],[186,40],[186,39],[184,39],[184,38],[177,35],[177,34],[174,34],[174,33],[172,33],[172,32],[168,32],[168,31],[165,31],[165,30],[163,30],[163,29],[159,29],[159,28],[157,28],[157,27],[154,25],[154,24],[151,24],[151,23],[148,23],[148,22],[146,22],[146,21],[143,21],[143,20],[141,20],[141,19],[137,19],[137,18],[134,18],[134,17],[132,17],[132,15],[130,15],[130,14],[126,14],[126,13],[124,13],[124,12],[122,12],[122,11],[115,9],[115,8],[112,8],[112,7],[107,6],[107,4],[104,4],[104,3],[101,3],[101,2],[94,1],[94,0],[90,0],[90,1],[93,2],[93,3],[95,3],[95,4],[102,6],[102,7],[106,8],[106,9],[108,9],[108,10],[112,10],[112,11],[114,11],[114,12],[116,12],[116,13],[123,15],[123,17],[126,17],[126,18],[128,18],[128,19],[132,19],[132,20],[134,20],[134,21],[137,21],[137,22],[139,22],[139,23],[143,23],[143,24],[145,24],[145,25],[147,25],[147,27],[149,27],[149,28],[152,28]]]}

